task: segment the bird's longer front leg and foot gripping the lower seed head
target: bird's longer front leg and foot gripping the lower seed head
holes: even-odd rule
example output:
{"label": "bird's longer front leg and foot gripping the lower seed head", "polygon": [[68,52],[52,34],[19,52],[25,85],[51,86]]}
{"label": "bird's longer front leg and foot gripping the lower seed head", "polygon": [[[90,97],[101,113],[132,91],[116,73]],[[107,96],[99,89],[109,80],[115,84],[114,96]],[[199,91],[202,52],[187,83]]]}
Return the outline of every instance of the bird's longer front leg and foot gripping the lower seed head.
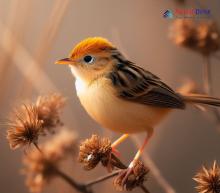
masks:
{"label": "bird's longer front leg and foot gripping the lower seed head", "polygon": [[133,173],[133,168],[135,166],[135,163],[138,161],[138,159],[140,158],[142,152],[144,151],[145,146],[148,144],[151,136],[153,134],[153,131],[148,133],[147,137],[144,139],[144,143],[142,144],[142,146],[138,149],[134,159],[132,160],[132,162],[129,164],[128,168],[124,171],[122,171],[121,173],[121,177],[123,178],[122,180],[122,184],[126,184],[129,175],[131,175]]}

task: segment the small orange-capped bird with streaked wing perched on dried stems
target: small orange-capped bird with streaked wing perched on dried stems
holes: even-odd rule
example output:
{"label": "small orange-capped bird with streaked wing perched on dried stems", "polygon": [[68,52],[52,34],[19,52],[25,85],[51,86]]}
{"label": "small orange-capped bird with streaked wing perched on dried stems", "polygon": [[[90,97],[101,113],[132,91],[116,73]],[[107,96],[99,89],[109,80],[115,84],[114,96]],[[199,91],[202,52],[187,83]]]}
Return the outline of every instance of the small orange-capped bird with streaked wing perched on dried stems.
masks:
{"label": "small orange-capped bird with streaked wing perched on dried stems", "polygon": [[220,106],[220,99],[217,98],[175,92],[160,78],[126,59],[111,42],[102,37],[81,41],[68,58],[56,63],[70,66],[76,78],[77,96],[88,114],[104,128],[124,134],[112,144],[112,148],[132,133],[147,132],[142,147],[128,167],[126,177],[154,128],[172,110],[185,109],[186,104]]}

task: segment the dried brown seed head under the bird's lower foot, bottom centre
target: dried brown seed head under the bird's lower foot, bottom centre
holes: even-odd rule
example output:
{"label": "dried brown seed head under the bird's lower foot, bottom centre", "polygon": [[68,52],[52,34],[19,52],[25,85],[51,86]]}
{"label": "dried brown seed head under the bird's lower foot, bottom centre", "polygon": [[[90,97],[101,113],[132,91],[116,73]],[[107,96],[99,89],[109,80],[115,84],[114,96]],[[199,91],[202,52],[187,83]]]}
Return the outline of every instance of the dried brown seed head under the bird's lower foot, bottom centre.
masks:
{"label": "dried brown seed head under the bird's lower foot, bottom centre", "polygon": [[119,190],[133,190],[135,187],[143,185],[144,181],[147,180],[146,175],[149,169],[144,166],[141,161],[136,161],[132,172],[124,179],[129,169],[122,170],[121,173],[114,179],[114,187]]}

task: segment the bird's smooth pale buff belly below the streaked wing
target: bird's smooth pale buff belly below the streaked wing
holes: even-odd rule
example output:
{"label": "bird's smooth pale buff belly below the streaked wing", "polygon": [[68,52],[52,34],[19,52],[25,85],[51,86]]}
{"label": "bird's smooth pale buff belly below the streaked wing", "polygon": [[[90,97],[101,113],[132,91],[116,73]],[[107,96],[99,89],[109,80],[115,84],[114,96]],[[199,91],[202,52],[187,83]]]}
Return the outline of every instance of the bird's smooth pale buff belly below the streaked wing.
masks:
{"label": "bird's smooth pale buff belly below the streaked wing", "polygon": [[115,132],[150,132],[170,111],[122,100],[110,94],[112,92],[107,88],[102,88],[101,91],[99,88],[99,92],[96,89],[78,93],[81,104],[102,127]]}

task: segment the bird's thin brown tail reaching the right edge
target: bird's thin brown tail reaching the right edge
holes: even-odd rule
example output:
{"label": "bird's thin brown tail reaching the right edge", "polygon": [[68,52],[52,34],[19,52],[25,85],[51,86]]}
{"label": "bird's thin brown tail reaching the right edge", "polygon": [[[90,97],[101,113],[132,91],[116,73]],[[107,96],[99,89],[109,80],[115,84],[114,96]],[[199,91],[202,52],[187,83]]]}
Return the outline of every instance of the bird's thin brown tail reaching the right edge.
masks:
{"label": "bird's thin brown tail reaching the right edge", "polygon": [[184,94],[183,99],[188,103],[206,104],[220,107],[220,99],[202,94]]}

